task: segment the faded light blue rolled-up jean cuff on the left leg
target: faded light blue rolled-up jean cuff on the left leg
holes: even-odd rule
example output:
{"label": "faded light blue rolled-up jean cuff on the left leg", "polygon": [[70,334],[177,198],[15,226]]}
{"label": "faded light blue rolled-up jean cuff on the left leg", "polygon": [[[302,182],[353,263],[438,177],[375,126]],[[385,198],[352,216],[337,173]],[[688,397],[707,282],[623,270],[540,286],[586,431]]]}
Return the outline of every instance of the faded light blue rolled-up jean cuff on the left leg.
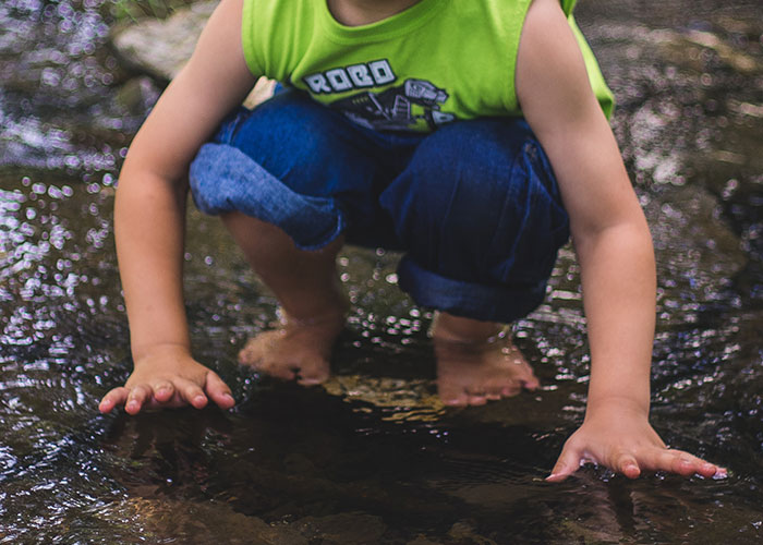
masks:
{"label": "faded light blue rolled-up jean cuff on the left leg", "polygon": [[191,194],[210,215],[241,211],[282,229],[300,250],[319,250],[344,230],[330,197],[300,195],[240,149],[204,144],[191,164]]}

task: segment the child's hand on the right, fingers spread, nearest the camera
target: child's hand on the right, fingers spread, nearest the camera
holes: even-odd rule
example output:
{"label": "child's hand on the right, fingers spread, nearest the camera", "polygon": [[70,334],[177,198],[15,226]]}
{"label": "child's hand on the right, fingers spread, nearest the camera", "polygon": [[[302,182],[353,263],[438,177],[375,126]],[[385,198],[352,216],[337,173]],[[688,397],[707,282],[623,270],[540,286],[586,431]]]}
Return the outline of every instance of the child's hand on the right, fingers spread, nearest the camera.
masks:
{"label": "child's hand on the right, fingers spread, nearest the camera", "polygon": [[629,479],[642,471],[667,471],[683,476],[726,476],[726,470],[689,452],[667,448],[649,423],[643,410],[622,402],[589,408],[583,425],[561,450],[546,481],[558,483],[583,463],[605,465]]}

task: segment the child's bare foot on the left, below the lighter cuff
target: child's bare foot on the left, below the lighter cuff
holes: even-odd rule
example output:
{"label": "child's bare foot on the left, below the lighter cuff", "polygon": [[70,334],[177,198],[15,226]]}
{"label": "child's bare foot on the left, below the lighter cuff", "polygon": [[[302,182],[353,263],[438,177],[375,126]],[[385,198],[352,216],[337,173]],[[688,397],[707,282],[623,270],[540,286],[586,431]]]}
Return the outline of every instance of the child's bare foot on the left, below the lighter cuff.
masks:
{"label": "child's bare foot on the left, below the lighter cuff", "polygon": [[329,377],[329,358],[344,327],[344,311],[307,319],[284,317],[281,327],[250,339],[239,352],[239,362],[270,376],[304,386]]}

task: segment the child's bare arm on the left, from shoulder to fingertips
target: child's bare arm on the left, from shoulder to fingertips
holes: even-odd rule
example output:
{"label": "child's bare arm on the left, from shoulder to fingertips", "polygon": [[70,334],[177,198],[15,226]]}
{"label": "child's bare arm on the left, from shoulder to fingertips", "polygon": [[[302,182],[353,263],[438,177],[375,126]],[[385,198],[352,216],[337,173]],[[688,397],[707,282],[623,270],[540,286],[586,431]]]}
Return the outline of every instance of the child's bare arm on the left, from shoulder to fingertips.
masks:
{"label": "child's bare arm on the left, from shoulder to fingertips", "polygon": [[193,57],[133,141],[119,178],[114,231],[135,368],[100,410],[124,404],[221,408],[230,389],[191,356],[182,263],[187,167],[220,120],[255,83],[241,46],[242,0],[223,0]]}

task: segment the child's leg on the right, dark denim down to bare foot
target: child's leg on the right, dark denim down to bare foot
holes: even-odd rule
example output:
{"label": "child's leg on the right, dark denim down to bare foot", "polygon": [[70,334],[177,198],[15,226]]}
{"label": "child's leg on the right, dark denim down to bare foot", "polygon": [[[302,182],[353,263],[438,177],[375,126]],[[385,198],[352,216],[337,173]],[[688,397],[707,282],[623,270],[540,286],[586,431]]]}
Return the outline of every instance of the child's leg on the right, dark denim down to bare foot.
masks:
{"label": "child's leg on the right, dark denim down to bare foot", "polygon": [[482,404],[538,383],[502,331],[535,308],[568,218],[526,123],[446,125],[382,195],[408,254],[400,287],[441,311],[432,332],[439,395]]}

